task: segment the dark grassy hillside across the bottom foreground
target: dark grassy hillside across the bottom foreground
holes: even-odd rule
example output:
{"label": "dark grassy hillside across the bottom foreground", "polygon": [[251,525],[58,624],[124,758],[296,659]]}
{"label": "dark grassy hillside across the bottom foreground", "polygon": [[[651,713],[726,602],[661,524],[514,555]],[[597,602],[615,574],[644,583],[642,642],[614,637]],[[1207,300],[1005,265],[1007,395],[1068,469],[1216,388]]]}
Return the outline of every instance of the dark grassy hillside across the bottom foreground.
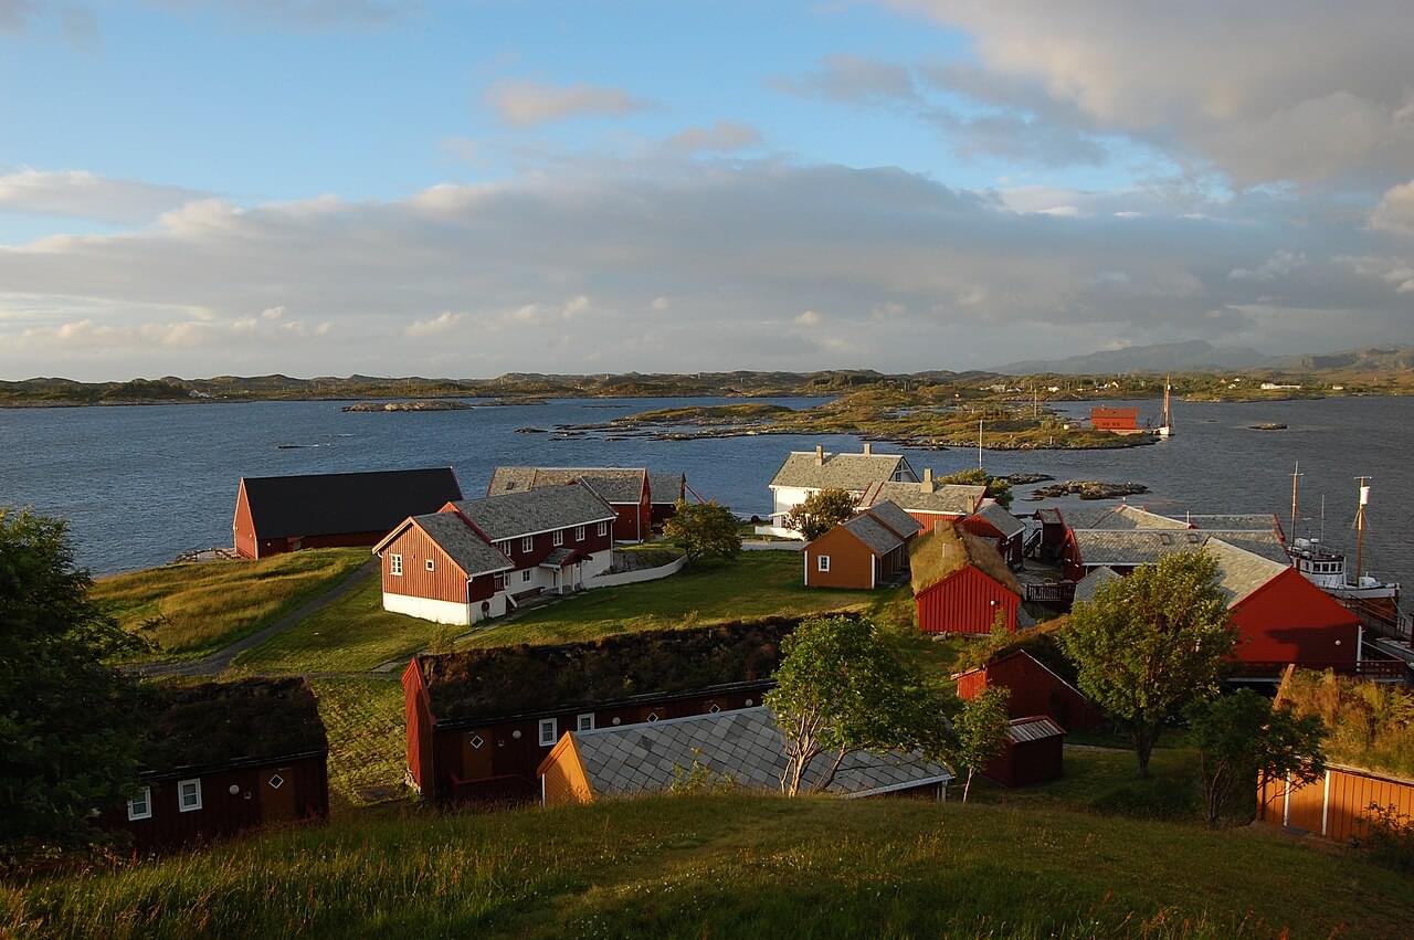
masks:
{"label": "dark grassy hillside across the bottom foreground", "polygon": [[404,810],[0,886],[17,937],[1299,940],[1411,917],[1400,875],[1256,830],[747,796]]}

